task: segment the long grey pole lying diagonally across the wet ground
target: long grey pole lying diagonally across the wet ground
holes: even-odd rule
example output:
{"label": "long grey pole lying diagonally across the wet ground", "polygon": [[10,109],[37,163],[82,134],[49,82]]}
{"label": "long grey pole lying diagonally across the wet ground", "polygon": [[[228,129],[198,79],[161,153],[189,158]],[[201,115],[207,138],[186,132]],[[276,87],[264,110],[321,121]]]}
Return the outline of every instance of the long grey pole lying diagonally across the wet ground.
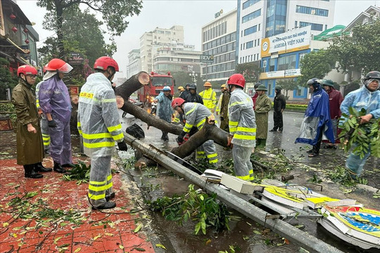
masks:
{"label": "long grey pole lying diagonally across the wet ground", "polygon": [[248,218],[260,223],[260,225],[265,228],[270,228],[274,231],[274,233],[295,242],[310,252],[343,253],[339,249],[336,249],[336,247],[315,238],[309,233],[300,231],[298,228],[291,226],[285,221],[281,221],[280,219],[266,219],[267,215],[270,215],[269,213],[255,207],[255,205],[247,202],[246,200],[236,197],[236,195],[220,188],[215,183],[206,182],[203,177],[171,160],[169,157],[156,150],[156,148],[142,143],[137,138],[134,138],[125,132],[124,136],[125,142],[128,143],[128,145],[131,145],[132,148],[140,150],[141,153],[149,157],[151,160],[154,160],[161,166],[170,169],[170,171],[174,172],[178,176],[181,176],[187,181],[196,184],[197,186],[205,189],[207,192],[216,193],[217,198],[220,201],[224,202],[226,205],[229,205],[229,207],[232,207]]}

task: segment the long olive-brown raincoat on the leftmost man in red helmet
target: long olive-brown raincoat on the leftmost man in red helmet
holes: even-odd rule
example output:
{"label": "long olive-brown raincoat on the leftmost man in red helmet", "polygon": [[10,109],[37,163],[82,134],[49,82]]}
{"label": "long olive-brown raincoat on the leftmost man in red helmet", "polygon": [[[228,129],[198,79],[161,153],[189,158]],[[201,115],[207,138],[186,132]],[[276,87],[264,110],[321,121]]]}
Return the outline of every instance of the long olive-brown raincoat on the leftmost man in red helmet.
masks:
{"label": "long olive-brown raincoat on the leftmost man in red helmet", "polygon": [[[12,91],[12,103],[15,105],[17,164],[36,164],[44,159],[44,146],[42,144],[39,126],[38,111],[32,87],[20,79]],[[27,124],[31,123],[37,134],[27,131]]]}

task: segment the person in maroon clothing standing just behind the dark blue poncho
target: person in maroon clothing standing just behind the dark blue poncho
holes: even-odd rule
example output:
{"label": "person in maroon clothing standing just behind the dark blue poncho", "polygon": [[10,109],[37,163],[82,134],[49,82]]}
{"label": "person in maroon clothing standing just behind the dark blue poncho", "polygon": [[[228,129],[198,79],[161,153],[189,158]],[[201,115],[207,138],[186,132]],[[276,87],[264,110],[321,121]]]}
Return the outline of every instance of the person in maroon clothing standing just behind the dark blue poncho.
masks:
{"label": "person in maroon clothing standing just behind the dark blue poncho", "polygon": [[[342,115],[341,103],[343,101],[343,96],[339,91],[337,91],[334,88],[334,83],[331,80],[323,79],[322,80],[322,86],[323,86],[324,91],[326,91],[327,94],[329,95],[330,117],[331,117],[331,122],[333,125],[334,139],[335,139],[335,143],[339,143],[338,121]],[[326,141],[326,142],[328,142],[328,141]],[[336,149],[336,145],[328,142],[326,145],[323,146],[323,148],[334,148],[334,149]]]}

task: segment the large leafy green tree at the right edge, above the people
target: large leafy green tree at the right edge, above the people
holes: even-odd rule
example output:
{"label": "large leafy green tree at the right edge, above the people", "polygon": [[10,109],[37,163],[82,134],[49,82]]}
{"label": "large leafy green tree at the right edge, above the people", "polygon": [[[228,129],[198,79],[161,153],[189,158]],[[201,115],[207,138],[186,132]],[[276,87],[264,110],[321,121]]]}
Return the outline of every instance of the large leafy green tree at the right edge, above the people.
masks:
{"label": "large leafy green tree at the right edge, above the people", "polygon": [[365,74],[372,70],[380,70],[380,19],[365,25],[356,25],[350,34],[335,37],[328,48],[336,58],[336,70],[347,73],[359,70]]}

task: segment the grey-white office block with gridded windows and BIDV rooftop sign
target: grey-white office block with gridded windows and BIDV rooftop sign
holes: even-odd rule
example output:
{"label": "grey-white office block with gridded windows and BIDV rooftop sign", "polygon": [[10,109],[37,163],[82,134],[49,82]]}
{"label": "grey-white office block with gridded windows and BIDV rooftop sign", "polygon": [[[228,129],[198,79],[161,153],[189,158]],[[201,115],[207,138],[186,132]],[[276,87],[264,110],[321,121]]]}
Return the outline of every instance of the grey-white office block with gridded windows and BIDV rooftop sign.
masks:
{"label": "grey-white office block with gridded windows and BIDV rooftop sign", "polygon": [[201,77],[224,83],[234,74],[236,65],[236,9],[215,13],[215,19],[202,27],[202,54],[213,62],[201,63]]}

